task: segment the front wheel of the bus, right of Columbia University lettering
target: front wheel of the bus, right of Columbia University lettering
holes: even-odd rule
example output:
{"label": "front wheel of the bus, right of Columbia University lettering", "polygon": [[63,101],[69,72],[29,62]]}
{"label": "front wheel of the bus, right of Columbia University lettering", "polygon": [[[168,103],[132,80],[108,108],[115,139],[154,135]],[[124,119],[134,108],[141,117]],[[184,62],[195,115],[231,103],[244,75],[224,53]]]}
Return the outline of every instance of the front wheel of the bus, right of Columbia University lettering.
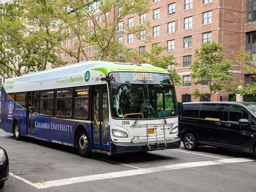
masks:
{"label": "front wheel of the bus, right of Columbia University lettering", "polygon": [[90,138],[89,133],[85,129],[79,129],[76,133],[76,145],[78,154],[82,157],[92,157],[90,151]]}

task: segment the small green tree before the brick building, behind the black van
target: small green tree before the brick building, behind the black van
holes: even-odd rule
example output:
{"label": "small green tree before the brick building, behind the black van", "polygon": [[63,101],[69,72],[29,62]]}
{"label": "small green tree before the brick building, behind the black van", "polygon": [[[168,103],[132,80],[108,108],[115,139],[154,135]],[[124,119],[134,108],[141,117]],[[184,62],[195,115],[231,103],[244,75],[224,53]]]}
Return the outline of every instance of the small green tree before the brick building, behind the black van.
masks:
{"label": "small green tree before the brick building, behind the black van", "polygon": [[[204,42],[200,50],[196,50],[196,60],[191,65],[191,79],[194,84],[207,84],[209,86],[212,100],[216,92],[231,91],[230,85],[234,84],[232,75],[232,62],[224,54],[222,45],[216,42]],[[207,78],[208,81],[204,80]],[[200,92],[196,89],[193,96],[197,99],[200,96],[206,97],[206,92]]]}

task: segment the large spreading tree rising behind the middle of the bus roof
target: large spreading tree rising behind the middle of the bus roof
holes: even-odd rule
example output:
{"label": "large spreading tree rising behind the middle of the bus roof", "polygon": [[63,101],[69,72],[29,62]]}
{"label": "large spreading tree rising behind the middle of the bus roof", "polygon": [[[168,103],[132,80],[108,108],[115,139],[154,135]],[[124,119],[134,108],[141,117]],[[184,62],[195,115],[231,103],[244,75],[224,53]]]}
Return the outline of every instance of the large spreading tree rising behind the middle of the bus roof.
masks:
{"label": "large spreading tree rising behind the middle of the bus roof", "polygon": [[[93,46],[96,50],[94,60],[108,60],[109,56],[113,55],[112,51],[119,50],[122,46],[116,38],[117,33],[122,35],[132,33],[139,37],[140,31],[150,30],[148,21],[142,25],[130,27],[124,21],[126,16],[148,12],[149,0],[41,0],[36,2],[44,7],[41,10],[44,17],[55,20],[63,42],[76,38],[74,41],[76,51],[65,48],[60,41],[40,36],[46,41],[55,43],[60,50],[76,58],[77,62],[83,56],[86,60],[92,59],[87,52],[87,46],[89,49]],[[123,25],[119,24],[121,21]]]}

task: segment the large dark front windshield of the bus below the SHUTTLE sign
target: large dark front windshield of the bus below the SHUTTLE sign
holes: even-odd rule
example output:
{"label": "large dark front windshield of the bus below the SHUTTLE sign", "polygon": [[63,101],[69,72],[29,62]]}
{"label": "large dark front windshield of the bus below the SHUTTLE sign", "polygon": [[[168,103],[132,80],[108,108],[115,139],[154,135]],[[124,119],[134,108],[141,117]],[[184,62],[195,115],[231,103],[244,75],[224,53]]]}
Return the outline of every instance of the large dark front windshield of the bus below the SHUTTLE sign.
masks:
{"label": "large dark front windshield of the bus below the SHUTTLE sign", "polygon": [[[164,75],[171,80],[169,75]],[[129,79],[126,78],[126,82],[127,80]],[[159,79],[157,81],[161,82]],[[167,82],[166,78],[165,82]],[[118,87],[117,95],[110,94],[114,118],[148,119],[177,116],[177,99],[173,84],[120,83]]]}

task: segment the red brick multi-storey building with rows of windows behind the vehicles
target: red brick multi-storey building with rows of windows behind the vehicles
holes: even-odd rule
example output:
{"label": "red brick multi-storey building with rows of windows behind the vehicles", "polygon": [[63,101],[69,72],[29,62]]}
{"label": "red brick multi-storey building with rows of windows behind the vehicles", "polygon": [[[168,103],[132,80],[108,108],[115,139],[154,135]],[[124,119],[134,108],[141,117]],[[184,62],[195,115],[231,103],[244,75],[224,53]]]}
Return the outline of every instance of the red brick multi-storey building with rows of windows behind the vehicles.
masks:
{"label": "red brick multi-storey building with rows of windows behind the vehicles", "polygon": [[[109,19],[111,15],[113,18],[113,12],[117,10],[118,8],[115,8],[109,13]],[[176,87],[179,100],[195,101],[192,96],[195,88],[209,92],[207,78],[202,85],[183,84],[184,81],[190,80],[189,66],[194,61],[195,49],[199,49],[203,41],[211,40],[224,46],[224,53],[234,61],[232,72],[238,83],[240,80],[243,80],[244,84],[250,83],[256,79],[253,74],[246,74],[243,67],[235,62],[232,54],[243,50],[251,50],[256,54],[255,0],[152,0],[151,11],[142,15],[131,15],[123,22],[140,25],[145,20],[151,22],[152,42],[145,43],[143,32],[140,39],[132,34],[123,33],[121,28],[123,23],[120,23],[121,30],[116,33],[116,38],[128,49],[140,51],[150,51],[152,44],[156,43],[166,46],[163,54],[174,55],[176,61],[180,63],[179,66],[168,66],[168,70],[175,67],[182,79],[182,85]],[[72,48],[71,41],[70,45],[67,45],[70,48]],[[93,48],[89,45],[87,50],[89,54],[93,53]],[[60,54],[68,64],[75,62],[74,58],[72,61],[72,58],[65,58],[63,53]],[[213,100],[230,100],[232,96],[231,92],[218,93]],[[198,98],[197,101],[199,100],[205,98]]]}

